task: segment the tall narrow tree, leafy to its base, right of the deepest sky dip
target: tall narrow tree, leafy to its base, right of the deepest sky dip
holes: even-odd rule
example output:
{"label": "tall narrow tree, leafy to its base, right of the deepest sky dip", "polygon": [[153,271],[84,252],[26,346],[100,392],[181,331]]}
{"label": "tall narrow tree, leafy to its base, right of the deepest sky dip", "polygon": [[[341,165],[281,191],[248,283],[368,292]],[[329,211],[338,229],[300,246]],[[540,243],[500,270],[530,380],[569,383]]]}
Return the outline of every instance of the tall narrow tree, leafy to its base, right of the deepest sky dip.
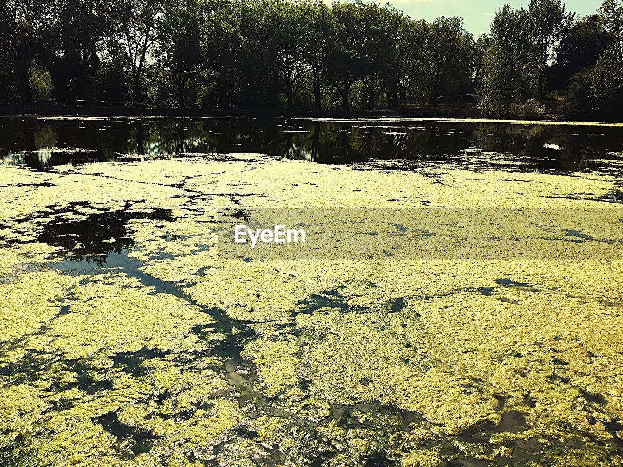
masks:
{"label": "tall narrow tree, leafy to its base, right of the deepest sky dip", "polygon": [[527,27],[528,14],[523,8],[513,9],[506,4],[496,12],[482,65],[479,104],[483,110],[508,116],[510,104],[525,94],[530,53]]}

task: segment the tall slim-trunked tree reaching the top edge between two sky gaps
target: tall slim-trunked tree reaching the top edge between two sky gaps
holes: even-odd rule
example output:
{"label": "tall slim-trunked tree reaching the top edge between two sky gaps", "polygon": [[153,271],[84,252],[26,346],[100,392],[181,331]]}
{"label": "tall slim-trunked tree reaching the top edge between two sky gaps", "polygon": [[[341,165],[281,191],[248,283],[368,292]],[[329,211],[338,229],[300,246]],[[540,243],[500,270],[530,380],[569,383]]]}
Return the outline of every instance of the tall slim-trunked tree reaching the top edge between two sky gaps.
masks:
{"label": "tall slim-trunked tree reaching the top edge between two sky gaps", "polygon": [[538,94],[543,97],[545,68],[554,53],[554,47],[558,45],[573,21],[573,14],[566,14],[561,0],[531,0],[528,5],[528,21],[533,57],[538,72]]}

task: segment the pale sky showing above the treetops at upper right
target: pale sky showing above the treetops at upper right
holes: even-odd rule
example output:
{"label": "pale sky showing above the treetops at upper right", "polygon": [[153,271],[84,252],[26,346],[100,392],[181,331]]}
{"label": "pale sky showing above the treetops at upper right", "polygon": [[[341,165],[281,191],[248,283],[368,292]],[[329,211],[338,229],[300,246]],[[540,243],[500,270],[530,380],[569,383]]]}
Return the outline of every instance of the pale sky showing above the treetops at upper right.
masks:
{"label": "pale sky showing above the treetops at upper right", "polygon": [[[439,16],[462,16],[465,29],[473,33],[474,38],[482,32],[489,31],[489,25],[495,11],[505,3],[513,7],[527,7],[530,0],[377,0],[384,4],[389,1],[397,9],[401,9],[413,19],[433,21]],[[563,0],[564,1],[564,0]],[[602,0],[567,0],[564,1],[566,11],[586,16],[597,11]]]}

